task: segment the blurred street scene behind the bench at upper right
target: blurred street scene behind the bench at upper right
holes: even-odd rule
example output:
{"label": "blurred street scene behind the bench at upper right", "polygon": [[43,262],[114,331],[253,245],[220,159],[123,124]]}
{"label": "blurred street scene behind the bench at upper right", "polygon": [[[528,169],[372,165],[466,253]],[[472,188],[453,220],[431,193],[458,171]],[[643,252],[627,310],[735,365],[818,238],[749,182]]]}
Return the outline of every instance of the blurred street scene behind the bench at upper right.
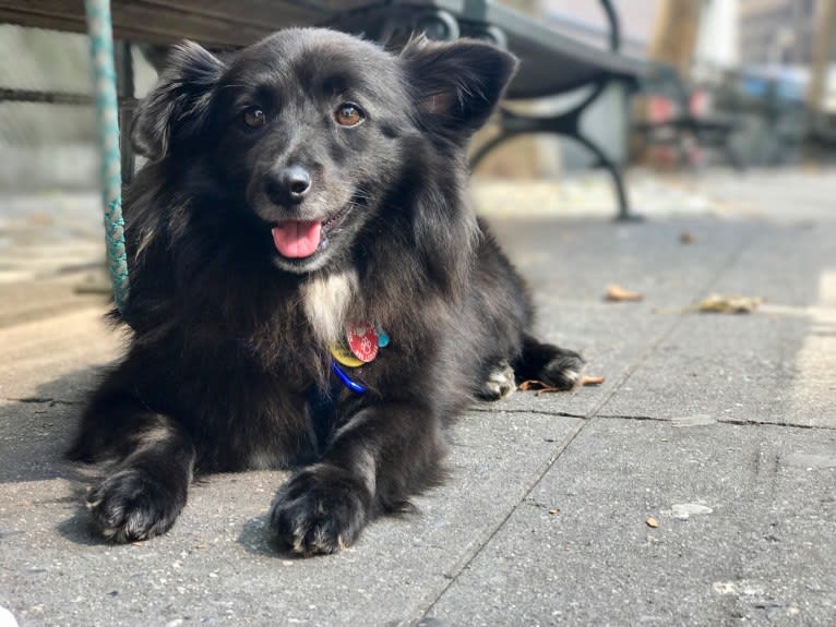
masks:
{"label": "blurred street scene behind the bench at upper right", "polygon": [[[598,2],[511,3],[558,31],[607,46],[609,25]],[[829,80],[836,75],[833,4],[829,0],[613,2],[621,23],[621,52],[668,72],[652,71],[643,79],[626,119],[620,119],[613,94],[609,101],[596,104],[584,123],[633,166],[757,168],[832,160],[836,146],[836,81]],[[673,136],[670,128],[667,133],[649,129],[682,116],[707,123],[722,121],[727,136],[700,143],[686,133]],[[618,132],[624,126],[626,132]],[[494,171],[553,176],[592,162],[571,142],[528,141],[530,146],[504,159],[492,155]],[[726,143],[739,164],[729,164]]]}

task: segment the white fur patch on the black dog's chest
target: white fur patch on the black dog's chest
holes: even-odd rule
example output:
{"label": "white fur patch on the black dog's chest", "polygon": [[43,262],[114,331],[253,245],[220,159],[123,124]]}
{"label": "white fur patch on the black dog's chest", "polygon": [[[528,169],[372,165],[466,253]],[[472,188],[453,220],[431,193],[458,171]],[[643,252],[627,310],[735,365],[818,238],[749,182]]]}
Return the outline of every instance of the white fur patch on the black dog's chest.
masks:
{"label": "white fur patch on the black dog's chest", "polygon": [[356,294],[354,272],[311,279],[302,286],[304,314],[320,342],[334,342],[345,335],[346,310]]}

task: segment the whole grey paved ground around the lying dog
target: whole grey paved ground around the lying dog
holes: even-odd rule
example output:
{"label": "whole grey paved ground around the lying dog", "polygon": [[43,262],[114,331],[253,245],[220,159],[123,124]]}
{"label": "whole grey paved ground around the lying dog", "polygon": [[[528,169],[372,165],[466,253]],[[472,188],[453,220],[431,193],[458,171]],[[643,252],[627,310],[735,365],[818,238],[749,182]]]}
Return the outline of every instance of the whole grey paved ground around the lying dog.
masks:
{"label": "whole grey paved ground around the lying dog", "polygon": [[[0,284],[0,606],[21,627],[835,624],[836,178],[648,178],[634,225],[584,185],[574,214],[548,188],[477,195],[541,334],[605,383],[475,407],[452,480],[331,557],[267,546],[282,472],[208,478],[163,538],[97,540],[95,470],[59,451],[121,340],[74,275]],[[693,311],[715,292],[766,301]]]}

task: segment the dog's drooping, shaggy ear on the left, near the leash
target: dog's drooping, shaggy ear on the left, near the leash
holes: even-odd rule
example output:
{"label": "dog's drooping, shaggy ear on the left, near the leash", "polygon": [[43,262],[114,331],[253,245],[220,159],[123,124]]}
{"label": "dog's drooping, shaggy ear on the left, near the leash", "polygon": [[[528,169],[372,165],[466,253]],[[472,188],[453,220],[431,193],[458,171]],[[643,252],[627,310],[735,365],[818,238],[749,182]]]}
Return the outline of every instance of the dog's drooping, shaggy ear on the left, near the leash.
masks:
{"label": "dog's drooping, shaggy ear on the left, near the leash", "polygon": [[198,44],[175,46],[157,85],[136,109],[131,129],[136,152],[158,161],[178,142],[199,133],[223,71],[220,60]]}

